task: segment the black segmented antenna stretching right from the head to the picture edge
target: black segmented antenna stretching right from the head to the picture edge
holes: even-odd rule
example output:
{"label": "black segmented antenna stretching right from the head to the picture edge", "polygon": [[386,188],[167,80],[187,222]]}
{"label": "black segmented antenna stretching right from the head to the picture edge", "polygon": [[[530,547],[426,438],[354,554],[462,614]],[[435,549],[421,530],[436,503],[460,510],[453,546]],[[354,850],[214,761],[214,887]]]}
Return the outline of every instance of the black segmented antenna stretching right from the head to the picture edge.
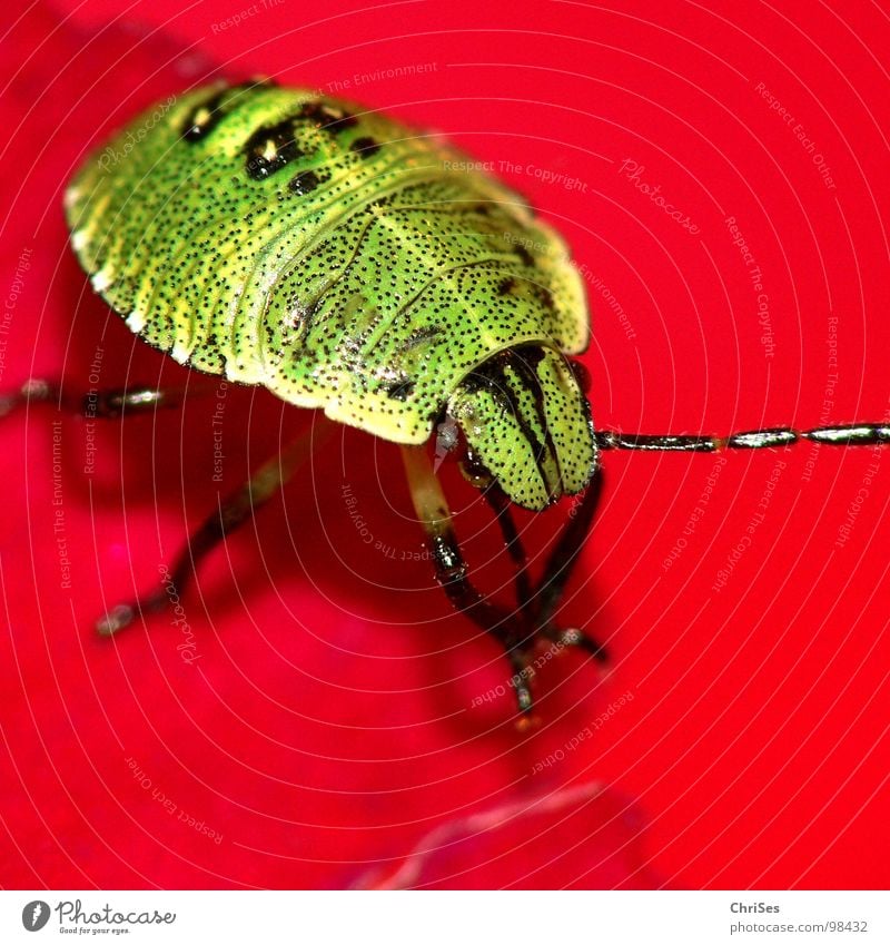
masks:
{"label": "black segmented antenna stretching right from the head to the picture edge", "polygon": [[801,440],[829,443],[833,446],[874,446],[890,443],[890,425],[886,423],[851,423],[843,426],[818,426],[814,430],[794,430],[773,426],[733,433],[731,436],[652,435],[649,433],[617,433],[597,430],[594,434],[601,450],[644,450],[650,452],[715,453],[719,450],[763,450],[770,446],[790,446]]}

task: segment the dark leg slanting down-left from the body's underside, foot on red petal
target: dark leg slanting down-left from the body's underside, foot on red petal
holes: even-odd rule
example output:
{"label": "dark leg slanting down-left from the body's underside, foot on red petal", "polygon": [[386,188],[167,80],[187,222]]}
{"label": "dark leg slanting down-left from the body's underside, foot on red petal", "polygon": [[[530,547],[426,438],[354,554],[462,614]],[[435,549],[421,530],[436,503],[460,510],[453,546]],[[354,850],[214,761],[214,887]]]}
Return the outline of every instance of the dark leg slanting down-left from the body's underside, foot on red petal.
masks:
{"label": "dark leg slanting down-left from the body's underside, foot on red petal", "polygon": [[[249,521],[255,512],[294,474],[309,452],[308,436],[296,440],[274,459],[264,463],[256,473],[219,505],[218,511],[201,523],[176,559],[164,583],[131,603],[112,607],[96,623],[102,637],[110,637],[132,623],[138,617],[162,610],[172,593],[180,594],[194,580],[199,562],[239,525]],[[317,437],[316,437],[317,440]]]}

